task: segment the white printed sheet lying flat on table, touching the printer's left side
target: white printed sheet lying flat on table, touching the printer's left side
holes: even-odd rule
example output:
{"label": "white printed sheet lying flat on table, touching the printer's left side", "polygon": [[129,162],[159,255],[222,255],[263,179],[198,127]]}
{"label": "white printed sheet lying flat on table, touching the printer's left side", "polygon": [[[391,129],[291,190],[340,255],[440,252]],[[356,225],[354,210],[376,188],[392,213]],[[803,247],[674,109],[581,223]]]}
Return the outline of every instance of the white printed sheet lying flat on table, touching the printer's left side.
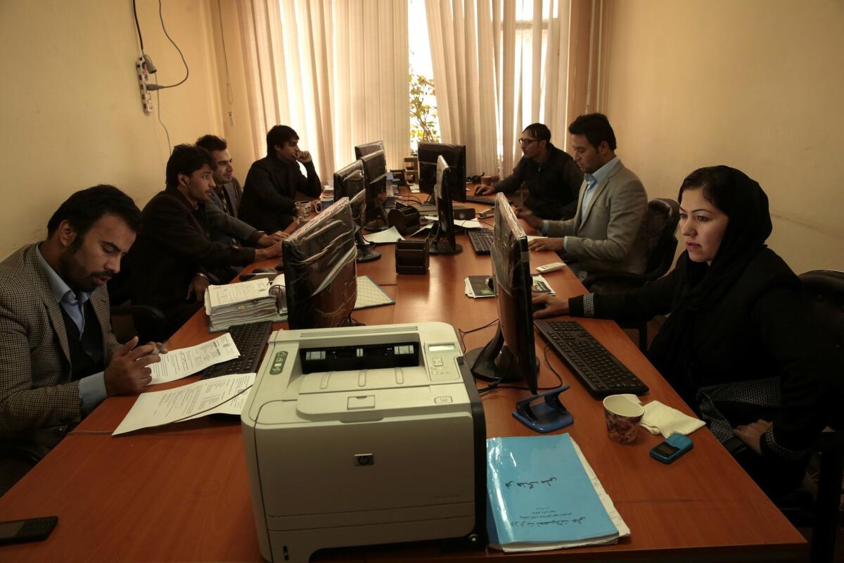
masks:
{"label": "white printed sheet lying flat on table, touching the printer's left side", "polygon": [[111,436],[208,414],[241,414],[249,395],[243,390],[254,382],[254,373],[233,373],[175,389],[141,393]]}

